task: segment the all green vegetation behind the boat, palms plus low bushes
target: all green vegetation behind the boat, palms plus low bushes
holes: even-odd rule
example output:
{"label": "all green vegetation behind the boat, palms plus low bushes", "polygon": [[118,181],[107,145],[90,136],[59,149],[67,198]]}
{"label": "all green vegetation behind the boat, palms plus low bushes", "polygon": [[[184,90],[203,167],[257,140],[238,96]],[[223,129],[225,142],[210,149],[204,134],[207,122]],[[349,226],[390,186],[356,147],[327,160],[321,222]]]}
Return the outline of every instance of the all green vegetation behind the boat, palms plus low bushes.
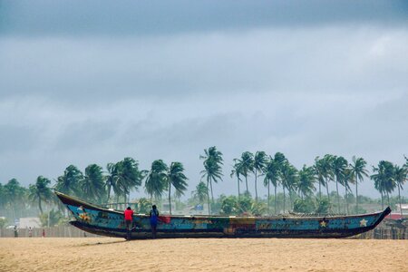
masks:
{"label": "all green vegetation behind the boat, palms plus low bushes", "polygon": [[[392,208],[397,203],[408,202],[401,195],[408,175],[408,159],[403,166],[381,160],[369,175],[363,158],[353,157],[352,163],[348,163],[341,156],[326,154],[322,158],[316,157],[314,165],[304,165],[297,170],[283,153],[277,152],[271,156],[264,151],[257,151],[255,155],[245,151],[240,158],[234,159],[230,177],[234,183],[237,180],[238,195],[221,195],[216,199],[213,189],[223,178],[222,153],[215,146],[204,150],[204,153],[199,157],[203,160],[203,180],[199,181],[187,201],[180,199],[188,188],[188,178],[181,162],[171,162],[168,166],[163,160],[154,160],[151,170],[140,170],[137,160],[124,158],[116,163],[108,163],[106,171],[99,165],[91,164],[83,173],[70,165],[54,182],[39,176],[28,188],[21,186],[15,179],[8,180],[4,185],[0,183],[0,215],[5,216],[0,224],[4,227],[7,222],[13,224],[15,219],[36,215],[40,215],[44,226],[65,222],[66,210],[54,196],[52,189],[106,205],[112,202],[129,203],[131,191],[143,186],[149,199],[139,199],[136,206],[141,213],[148,213],[151,203],[160,203],[166,192],[169,203],[175,201],[176,209],[202,205],[207,201],[210,214],[224,215],[267,215],[285,213],[288,210],[319,214],[335,210],[337,213],[347,214],[350,212],[350,205],[355,213],[362,213],[367,209],[371,211],[378,208],[379,205],[384,209],[384,201]],[[374,182],[374,188],[379,191],[381,199],[358,195],[358,184],[368,177]],[[264,197],[259,194],[259,179],[263,180],[266,188]],[[246,190],[241,193],[240,185],[244,180]],[[248,181],[251,180],[255,185],[254,199],[248,191]],[[335,185],[335,191],[329,192],[328,185],[331,182]],[[271,186],[274,189],[273,195],[270,193]],[[281,192],[277,192],[279,188]],[[324,188],[326,195],[322,194]],[[344,194],[341,195],[342,188]],[[393,197],[391,194],[395,189],[397,196]]]}

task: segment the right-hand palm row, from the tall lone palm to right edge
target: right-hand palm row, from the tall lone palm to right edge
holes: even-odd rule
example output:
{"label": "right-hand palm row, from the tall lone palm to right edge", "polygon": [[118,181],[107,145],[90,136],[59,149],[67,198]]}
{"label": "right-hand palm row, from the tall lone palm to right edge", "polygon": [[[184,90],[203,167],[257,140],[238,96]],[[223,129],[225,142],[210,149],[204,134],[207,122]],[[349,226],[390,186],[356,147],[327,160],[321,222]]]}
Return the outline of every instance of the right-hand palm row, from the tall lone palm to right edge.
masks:
{"label": "right-hand palm row, from the tall lone palm to right edge", "polygon": [[[222,153],[217,151],[216,147],[210,147],[205,150],[205,155],[200,156],[204,160],[203,178],[207,179],[207,186],[213,194],[212,181],[218,182],[222,180]],[[369,177],[366,169],[366,161],[363,158],[353,157],[349,163],[342,156],[326,154],[323,158],[316,157],[315,164],[307,167],[303,166],[301,170],[296,170],[285,155],[277,152],[273,157],[267,156],[265,151],[257,151],[255,154],[245,151],[241,157],[234,159],[231,178],[235,177],[238,184],[238,198],[241,195],[240,183],[242,177],[245,180],[246,190],[244,194],[248,194],[248,176],[254,176],[255,200],[257,202],[257,179],[262,177],[263,184],[267,187],[267,209],[270,209],[270,187],[275,189],[275,201],[277,201],[277,188],[280,186],[283,189],[284,201],[283,212],[286,207],[286,195],[290,198],[290,203],[293,205],[294,194],[300,196],[301,199],[310,197],[316,191],[315,184],[318,184],[318,196],[322,198],[322,187],[325,187],[327,199],[330,201],[330,193],[328,189],[329,182],[335,182],[337,212],[341,212],[339,185],[345,189],[345,196],[352,193],[350,185],[355,185],[355,212],[358,212],[358,184],[364,180],[364,177]],[[374,180],[375,189],[379,190],[382,199],[384,194],[388,197],[389,193],[398,188],[399,199],[401,199],[400,190],[403,189],[403,183],[407,180],[408,160],[403,167],[393,165],[393,163],[385,160],[379,162],[378,167],[373,167],[374,174],[370,176]],[[213,198],[212,202],[214,202]],[[348,198],[345,197],[345,213],[349,213]],[[401,203],[401,200],[400,200]],[[384,208],[384,200],[382,200]],[[275,213],[277,213],[277,203],[275,202]]]}

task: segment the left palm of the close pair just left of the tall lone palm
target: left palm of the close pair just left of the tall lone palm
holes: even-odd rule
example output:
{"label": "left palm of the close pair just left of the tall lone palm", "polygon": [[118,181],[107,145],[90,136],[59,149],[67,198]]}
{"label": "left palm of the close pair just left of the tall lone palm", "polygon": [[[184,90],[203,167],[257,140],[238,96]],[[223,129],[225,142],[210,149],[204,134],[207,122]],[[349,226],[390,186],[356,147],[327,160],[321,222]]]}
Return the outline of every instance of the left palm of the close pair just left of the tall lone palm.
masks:
{"label": "left palm of the close pair just left of the tall lone palm", "polygon": [[144,188],[146,192],[151,196],[151,201],[154,196],[155,199],[161,199],[161,195],[167,188],[166,173],[168,167],[163,160],[154,160],[151,163],[151,170],[146,176],[144,182]]}

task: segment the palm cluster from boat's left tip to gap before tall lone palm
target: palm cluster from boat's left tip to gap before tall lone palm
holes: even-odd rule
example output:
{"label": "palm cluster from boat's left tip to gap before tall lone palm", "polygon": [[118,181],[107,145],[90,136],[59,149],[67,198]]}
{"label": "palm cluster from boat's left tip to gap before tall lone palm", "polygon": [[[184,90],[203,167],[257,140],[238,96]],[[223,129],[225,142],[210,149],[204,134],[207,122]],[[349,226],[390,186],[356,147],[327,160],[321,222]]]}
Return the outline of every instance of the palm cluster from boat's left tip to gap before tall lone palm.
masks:
{"label": "palm cluster from boat's left tip to gap before tall lone palm", "polygon": [[111,193],[124,203],[130,200],[131,190],[141,187],[145,180],[145,190],[151,199],[161,199],[164,191],[169,192],[171,214],[171,187],[176,194],[182,195],[187,189],[187,177],[181,162],[174,161],[167,166],[163,160],[154,160],[151,170],[140,170],[139,163],[132,158],[124,158],[116,163],[108,163],[107,175],[102,167],[92,164],[85,169],[85,175],[75,166],[69,166],[63,176],[57,179],[55,189],[63,193],[73,194],[83,199],[100,203],[109,202]]}

